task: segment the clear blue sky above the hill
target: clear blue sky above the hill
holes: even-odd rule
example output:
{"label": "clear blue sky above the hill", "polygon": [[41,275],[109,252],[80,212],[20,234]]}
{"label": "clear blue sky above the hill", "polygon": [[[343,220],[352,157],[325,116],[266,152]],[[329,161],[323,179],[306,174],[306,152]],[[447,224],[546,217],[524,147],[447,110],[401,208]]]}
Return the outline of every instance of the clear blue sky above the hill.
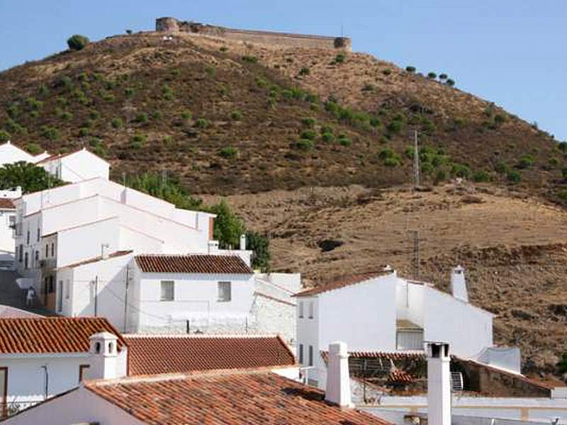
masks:
{"label": "clear blue sky above the hill", "polygon": [[0,70],[99,40],[149,30],[157,16],[237,28],[352,37],[353,50],[446,72],[567,140],[567,1],[0,0]]}

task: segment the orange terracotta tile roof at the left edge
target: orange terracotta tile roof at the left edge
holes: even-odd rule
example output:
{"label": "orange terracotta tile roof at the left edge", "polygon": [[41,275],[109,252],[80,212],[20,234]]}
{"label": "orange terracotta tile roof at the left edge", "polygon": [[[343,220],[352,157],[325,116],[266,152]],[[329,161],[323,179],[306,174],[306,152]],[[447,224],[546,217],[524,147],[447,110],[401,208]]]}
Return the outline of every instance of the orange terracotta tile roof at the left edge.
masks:
{"label": "orange terracotta tile roof at the left edge", "polygon": [[0,319],[0,353],[85,353],[89,336],[109,331],[124,339],[103,317],[39,317]]}

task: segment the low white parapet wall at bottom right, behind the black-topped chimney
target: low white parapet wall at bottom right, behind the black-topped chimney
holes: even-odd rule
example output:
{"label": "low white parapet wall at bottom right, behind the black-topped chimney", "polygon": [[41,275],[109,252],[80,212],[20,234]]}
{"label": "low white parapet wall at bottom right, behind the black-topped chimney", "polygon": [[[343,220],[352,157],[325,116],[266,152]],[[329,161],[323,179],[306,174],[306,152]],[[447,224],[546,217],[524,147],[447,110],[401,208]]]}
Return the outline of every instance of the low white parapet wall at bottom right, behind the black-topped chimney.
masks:
{"label": "low white parapet wall at bottom right, behind the black-topped chimney", "polygon": [[[427,414],[427,397],[425,395],[414,397],[386,396],[381,397],[377,404],[358,405],[357,408],[376,414],[376,416],[387,411]],[[500,418],[546,424],[551,423],[551,419],[555,418],[567,422],[567,398],[453,396],[452,414],[454,416]],[[397,415],[399,416],[399,414]],[[403,422],[400,423],[403,424]],[[559,423],[563,422],[560,421]]]}

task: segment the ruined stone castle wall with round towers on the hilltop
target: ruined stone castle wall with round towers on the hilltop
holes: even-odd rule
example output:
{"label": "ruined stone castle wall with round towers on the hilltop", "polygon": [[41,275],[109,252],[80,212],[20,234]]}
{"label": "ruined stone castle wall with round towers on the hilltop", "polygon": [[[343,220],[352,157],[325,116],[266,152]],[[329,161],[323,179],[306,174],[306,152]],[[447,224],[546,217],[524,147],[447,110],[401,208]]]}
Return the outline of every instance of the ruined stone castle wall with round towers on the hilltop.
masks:
{"label": "ruined stone castle wall with round towers on the hilltop", "polygon": [[258,42],[265,45],[286,47],[310,47],[318,49],[351,51],[351,39],[348,37],[327,37],[325,35],[304,35],[274,33],[271,31],[237,30],[213,26],[204,23],[179,21],[176,18],[157,18],[155,30],[161,33],[193,33],[213,35],[228,40]]}

